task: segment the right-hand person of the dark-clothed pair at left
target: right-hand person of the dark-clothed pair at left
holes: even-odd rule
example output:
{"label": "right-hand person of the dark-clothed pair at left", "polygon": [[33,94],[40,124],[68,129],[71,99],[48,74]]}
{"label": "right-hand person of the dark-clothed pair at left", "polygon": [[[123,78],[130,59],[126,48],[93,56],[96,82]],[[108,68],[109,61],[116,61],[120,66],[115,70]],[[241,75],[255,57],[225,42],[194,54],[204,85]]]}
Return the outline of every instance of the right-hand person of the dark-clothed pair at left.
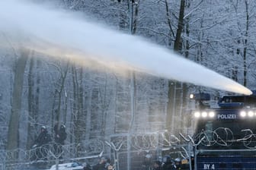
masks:
{"label": "right-hand person of the dark-clothed pair at left", "polygon": [[66,126],[64,124],[60,125],[59,123],[56,123],[54,125],[54,150],[56,154],[62,153],[62,145],[64,145],[64,141],[66,140],[67,134],[66,134]]}

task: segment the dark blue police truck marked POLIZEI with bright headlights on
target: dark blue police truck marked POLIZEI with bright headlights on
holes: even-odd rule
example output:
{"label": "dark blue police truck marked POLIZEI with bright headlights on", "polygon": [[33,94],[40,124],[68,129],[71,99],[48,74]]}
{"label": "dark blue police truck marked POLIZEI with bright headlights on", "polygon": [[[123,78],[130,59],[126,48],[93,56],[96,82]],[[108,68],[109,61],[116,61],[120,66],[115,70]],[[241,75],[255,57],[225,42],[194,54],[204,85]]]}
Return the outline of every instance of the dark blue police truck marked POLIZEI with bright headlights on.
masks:
{"label": "dark blue police truck marked POLIZEI with bright headlights on", "polygon": [[204,105],[208,94],[195,99],[194,169],[256,169],[256,93],[223,96],[216,108]]}

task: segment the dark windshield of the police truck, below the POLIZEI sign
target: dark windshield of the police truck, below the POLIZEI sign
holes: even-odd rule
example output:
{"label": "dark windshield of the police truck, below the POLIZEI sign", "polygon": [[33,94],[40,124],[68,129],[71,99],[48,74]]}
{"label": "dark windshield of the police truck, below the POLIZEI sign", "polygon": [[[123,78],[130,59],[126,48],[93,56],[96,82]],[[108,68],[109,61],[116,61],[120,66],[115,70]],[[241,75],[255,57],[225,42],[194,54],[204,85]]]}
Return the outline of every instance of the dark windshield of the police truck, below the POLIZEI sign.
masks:
{"label": "dark windshield of the police truck, below the POLIZEI sign", "polygon": [[256,149],[254,120],[199,121],[194,135],[198,150]]}

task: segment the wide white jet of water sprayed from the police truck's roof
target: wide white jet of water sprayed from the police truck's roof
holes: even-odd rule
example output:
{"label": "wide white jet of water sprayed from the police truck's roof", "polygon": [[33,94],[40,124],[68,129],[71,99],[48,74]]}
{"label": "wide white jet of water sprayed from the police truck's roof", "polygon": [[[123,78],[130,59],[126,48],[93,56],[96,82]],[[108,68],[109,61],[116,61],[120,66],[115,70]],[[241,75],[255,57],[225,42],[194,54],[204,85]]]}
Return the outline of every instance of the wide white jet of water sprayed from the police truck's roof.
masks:
{"label": "wide white jet of water sprayed from the police truck's roof", "polygon": [[[23,46],[73,61],[134,69],[159,77],[249,95],[251,90],[145,39],[93,24],[81,15],[22,0],[0,2],[0,46]],[[84,62],[84,63],[85,63]]]}

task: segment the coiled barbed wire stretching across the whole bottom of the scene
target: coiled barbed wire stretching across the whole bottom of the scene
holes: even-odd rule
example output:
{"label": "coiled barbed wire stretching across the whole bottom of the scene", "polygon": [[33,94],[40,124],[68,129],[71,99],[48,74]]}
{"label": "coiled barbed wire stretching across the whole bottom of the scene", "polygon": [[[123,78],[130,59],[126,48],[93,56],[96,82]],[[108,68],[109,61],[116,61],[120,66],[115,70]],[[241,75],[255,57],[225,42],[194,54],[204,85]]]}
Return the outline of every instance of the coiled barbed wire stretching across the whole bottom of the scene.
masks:
{"label": "coiled barbed wire stretching across the whole bottom of the scene", "polygon": [[[139,155],[142,152],[149,153],[158,150],[161,153],[172,148],[180,148],[175,152],[179,156],[187,158],[193,153],[193,147],[198,145],[229,147],[233,143],[240,143],[240,146],[243,146],[246,150],[255,150],[256,134],[250,129],[244,129],[241,133],[244,136],[235,138],[234,133],[229,128],[216,128],[214,131],[201,131],[194,137],[190,137],[183,134],[175,136],[168,131],[156,131],[144,134],[115,134],[110,136],[108,140],[94,139],[84,141],[78,145],[59,146],[56,143],[49,143],[31,150],[0,150],[0,170],[21,169],[17,167],[30,167],[31,165],[40,164],[49,166],[58,163],[57,160],[70,162],[91,159],[92,164],[96,164],[97,159],[103,153],[105,156],[110,155],[114,159],[114,166],[117,170],[123,170],[120,169],[120,165],[122,165],[123,157],[127,157],[129,152]],[[107,152],[107,150],[110,150],[110,152]],[[79,153],[79,157],[75,153]],[[159,153],[155,153],[155,155],[157,154]],[[126,163],[127,161],[124,161],[123,165],[126,165]]]}

